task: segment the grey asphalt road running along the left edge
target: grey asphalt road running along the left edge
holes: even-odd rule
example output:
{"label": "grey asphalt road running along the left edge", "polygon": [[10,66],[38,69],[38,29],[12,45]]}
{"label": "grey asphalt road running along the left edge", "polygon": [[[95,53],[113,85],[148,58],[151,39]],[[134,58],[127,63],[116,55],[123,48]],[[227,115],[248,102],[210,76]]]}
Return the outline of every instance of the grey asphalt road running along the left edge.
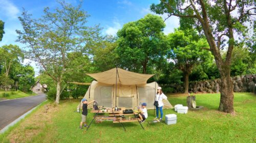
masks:
{"label": "grey asphalt road running along the left edge", "polygon": [[46,100],[45,94],[0,102],[0,130]]}

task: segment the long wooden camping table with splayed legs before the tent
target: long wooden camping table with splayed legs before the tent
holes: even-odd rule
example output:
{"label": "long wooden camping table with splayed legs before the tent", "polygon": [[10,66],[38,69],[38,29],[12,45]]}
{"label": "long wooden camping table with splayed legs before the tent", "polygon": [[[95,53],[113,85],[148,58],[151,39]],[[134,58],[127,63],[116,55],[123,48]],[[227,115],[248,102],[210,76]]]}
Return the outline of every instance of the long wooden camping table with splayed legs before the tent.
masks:
{"label": "long wooden camping table with splayed legs before the tent", "polygon": [[[108,111],[108,112],[102,112],[102,110],[99,109],[99,110],[91,110],[91,113],[95,113],[95,116],[94,116],[93,120],[95,120],[95,118],[97,118],[98,113],[108,113],[109,116],[106,116],[106,117],[99,117],[99,116],[98,116],[99,119],[101,119],[101,120],[113,121],[113,123],[120,123],[121,126],[123,127],[123,130],[124,130],[124,131],[126,131],[126,130],[125,130],[125,128],[124,128],[124,126],[123,126],[122,123],[126,123],[126,122],[139,122],[141,128],[144,130],[143,126],[142,126],[141,123],[140,123],[140,120],[139,120],[138,118],[136,118],[136,116],[135,116],[135,115],[138,115],[137,112],[133,112],[133,113],[129,113],[129,114],[124,114],[124,113],[123,113],[123,110],[125,110],[125,108],[123,108],[123,107],[122,107],[121,110],[119,110],[119,111],[111,110],[111,111]],[[125,120],[119,120],[118,117],[120,117],[120,116],[126,116],[126,115],[134,115],[134,117],[135,117],[136,119],[131,119],[131,120],[126,120],[126,119],[125,119]],[[87,130],[90,128],[90,126],[91,126],[93,120],[91,121],[91,123],[90,123],[89,126],[87,127]]]}

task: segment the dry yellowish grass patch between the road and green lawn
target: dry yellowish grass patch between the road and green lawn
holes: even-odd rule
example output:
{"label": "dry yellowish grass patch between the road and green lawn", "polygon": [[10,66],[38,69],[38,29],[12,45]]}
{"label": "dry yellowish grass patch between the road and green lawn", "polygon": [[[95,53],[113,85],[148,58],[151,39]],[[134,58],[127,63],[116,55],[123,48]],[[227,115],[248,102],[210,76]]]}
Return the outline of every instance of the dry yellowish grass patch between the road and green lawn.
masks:
{"label": "dry yellowish grass patch between the road and green lawn", "polygon": [[58,106],[51,103],[41,106],[16,129],[12,130],[7,138],[10,142],[31,142],[34,137],[53,123],[52,116],[57,110]]}

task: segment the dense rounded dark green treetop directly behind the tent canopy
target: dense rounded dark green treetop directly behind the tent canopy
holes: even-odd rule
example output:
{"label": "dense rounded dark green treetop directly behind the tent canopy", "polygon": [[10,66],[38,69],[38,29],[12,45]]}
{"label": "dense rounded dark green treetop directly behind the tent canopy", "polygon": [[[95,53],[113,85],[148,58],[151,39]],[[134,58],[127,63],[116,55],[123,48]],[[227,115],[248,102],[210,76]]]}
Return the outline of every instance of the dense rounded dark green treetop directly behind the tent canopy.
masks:
{"label": "dense rounded dark green treetop directly behind the tent canopy", "polygon": [[142,73],[146,73],[148,63],[159,61],[166,50],[164,27],[163,19],[152,14],[124,24],[117,33],[119,64],[137,72],[142,67]]}

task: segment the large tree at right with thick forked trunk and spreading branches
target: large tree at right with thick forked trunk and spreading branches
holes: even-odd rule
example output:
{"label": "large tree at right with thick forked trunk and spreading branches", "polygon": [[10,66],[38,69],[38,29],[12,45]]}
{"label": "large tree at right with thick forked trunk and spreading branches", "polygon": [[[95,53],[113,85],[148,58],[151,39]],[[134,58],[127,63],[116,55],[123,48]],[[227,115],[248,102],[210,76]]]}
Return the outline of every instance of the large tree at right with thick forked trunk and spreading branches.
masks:
{"label": "large tree at right with thick forked trunk and spreading branches", "polygon": [[[151,10],[168,16],[194,19],[195,27],[201,26],[211,51],[214,55],[221,76],[221,98],[219,110],[234,113],[233,85],[230,78],[230,64],[233,47],[246,37],[246,22],[252,22],[255,15],[253,1],[167,1],[151,5]],[[234,37],[234,33],[238,36]],[[237,39],[240,38],[240,39]],[[227,54],[222,59],[220,50],[227,46]]]}

